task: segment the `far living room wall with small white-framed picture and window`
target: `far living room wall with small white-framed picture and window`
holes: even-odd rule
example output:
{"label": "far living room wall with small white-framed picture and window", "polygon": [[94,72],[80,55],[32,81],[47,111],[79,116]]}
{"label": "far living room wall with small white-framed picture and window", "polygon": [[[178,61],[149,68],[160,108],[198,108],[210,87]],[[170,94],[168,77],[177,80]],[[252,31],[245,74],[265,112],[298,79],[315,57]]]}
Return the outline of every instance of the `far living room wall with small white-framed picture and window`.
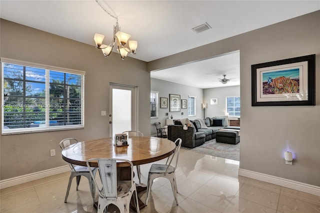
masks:
{"label": "far living room wall with small white-framed picture and window", "polygon": [[[206,117],[220,116],[225,113],[225,97],[240,96],[240,86],[223,86],[203,89],[203,101],[207,103]],[[211,105],[210,99],[217,98],[218,104]]]}

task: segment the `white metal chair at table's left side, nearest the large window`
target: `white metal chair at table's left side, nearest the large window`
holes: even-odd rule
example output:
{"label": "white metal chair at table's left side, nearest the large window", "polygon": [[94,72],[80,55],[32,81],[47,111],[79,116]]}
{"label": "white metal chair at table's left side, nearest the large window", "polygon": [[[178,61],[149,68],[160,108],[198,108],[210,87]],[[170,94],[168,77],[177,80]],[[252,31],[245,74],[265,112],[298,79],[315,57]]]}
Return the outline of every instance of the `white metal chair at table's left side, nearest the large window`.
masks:
{"label": "white metal chair at table's left side, nearest the large window", "polygon": [[[78,142],[78,140],[75,138],[72,138],[72,137],[64,138],[63,140],[60,141],[60,147],[61,147],[61,149],[63,149],[63,148],[68,147],[70,144],[77,143],[77,142]],[[69,163],[69,166],[70,166],[71,171],[70,171],[69,183],[68,183],[68,187],[66,189],[64,202],[66,202],[66,200],[68,198],[69,190],[70,190],[70,186],[71,186],[73,177],[76,177],[76,190],[78,190],[80,178],[81,178],[81,176],[85,176],[89,181],[90,192],[91,192],[93,203],[94,203],[95,202],[95,184],[94,184],[94,181],[91,177],[90,171],[92,171],[92,173],[95,176],[95,173],[98,169],[97,168],[88,168],[86,166],[81,166],[81,165],[73,165],[71,163]]]}

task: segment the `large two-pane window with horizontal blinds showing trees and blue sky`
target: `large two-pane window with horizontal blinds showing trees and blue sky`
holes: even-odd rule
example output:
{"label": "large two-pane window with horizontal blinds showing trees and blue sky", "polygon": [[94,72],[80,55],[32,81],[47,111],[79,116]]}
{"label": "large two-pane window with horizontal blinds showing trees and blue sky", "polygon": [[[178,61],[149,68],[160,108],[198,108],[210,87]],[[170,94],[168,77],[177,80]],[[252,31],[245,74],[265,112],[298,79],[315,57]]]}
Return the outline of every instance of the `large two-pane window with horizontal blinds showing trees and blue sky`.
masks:
{"label": "large two-pane window with horizontal blinds showing trees and blue sky", "polygon": [[3,58],[1,65],[2,134],[84,126],[83,71]]}

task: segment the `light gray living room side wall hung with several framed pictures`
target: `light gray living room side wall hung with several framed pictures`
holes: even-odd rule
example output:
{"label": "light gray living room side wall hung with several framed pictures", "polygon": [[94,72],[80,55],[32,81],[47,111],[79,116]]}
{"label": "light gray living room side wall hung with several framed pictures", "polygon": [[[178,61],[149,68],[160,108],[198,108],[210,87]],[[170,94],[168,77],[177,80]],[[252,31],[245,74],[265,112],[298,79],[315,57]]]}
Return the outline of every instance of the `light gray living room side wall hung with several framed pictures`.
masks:
{"label": "light gray living room side wall hung with several framed pictures", "polygon": [[[168,98],[168,108],[160,108],[158,107],[158,118],[151,119],[151,135],[156,134],[156,128],[154,122],[160,122],[161,126],[165,125],[165,119],[167,116],[165,113],[168,113],[168,116],[173,116],[173,119],[181,119],[188,117],[189,119],[201,118],[201,114],[203,114],[203,109],[201,109],[202,95],[203,91],[201,88],[196,88],[192,86],[187,86],[179,83],[173,83],[165,80],[159,80],[156,78],[151,78],[151,91],[158,91],[159,97],[167,97]],[[188,110],[180,109],[180,111],[170,112],[169,111],[169,94],[179,94],[180,99],[188,99],[188,95],[196,97],[196,116],[188,116]],[[183,112],[183,115],[181,115]]]}

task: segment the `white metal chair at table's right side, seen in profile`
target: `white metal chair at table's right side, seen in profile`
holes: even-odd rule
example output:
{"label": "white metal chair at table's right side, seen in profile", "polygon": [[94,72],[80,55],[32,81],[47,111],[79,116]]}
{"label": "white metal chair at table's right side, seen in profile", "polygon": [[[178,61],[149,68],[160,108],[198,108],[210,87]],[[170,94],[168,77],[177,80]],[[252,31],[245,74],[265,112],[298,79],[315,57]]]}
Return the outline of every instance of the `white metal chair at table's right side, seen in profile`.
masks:
{"label": "white metal chair at table's right side, seen in profile", "polygon": [[147,181],[147,186],[146,186],[146,199],[145,199],[145,205],[148,204],[148,199],[151,194],[151,186],[153,179],[157,177],[165,177],[171,182],[171,187],[172,187],[172,192],[173,196],[175,198],[175,203],[178,204],[178,199],[177,199],[177,187],[176,187],[176,181],[175,181],[175,168],[178,162],[178,157],[179,157],[179,151],[181,147],[181,138],[177,138],[174,143],[176,145],[173,154],[171,154],[165,164],[152,164],[149,170],[149,175],[148,175],[148,181]]}

